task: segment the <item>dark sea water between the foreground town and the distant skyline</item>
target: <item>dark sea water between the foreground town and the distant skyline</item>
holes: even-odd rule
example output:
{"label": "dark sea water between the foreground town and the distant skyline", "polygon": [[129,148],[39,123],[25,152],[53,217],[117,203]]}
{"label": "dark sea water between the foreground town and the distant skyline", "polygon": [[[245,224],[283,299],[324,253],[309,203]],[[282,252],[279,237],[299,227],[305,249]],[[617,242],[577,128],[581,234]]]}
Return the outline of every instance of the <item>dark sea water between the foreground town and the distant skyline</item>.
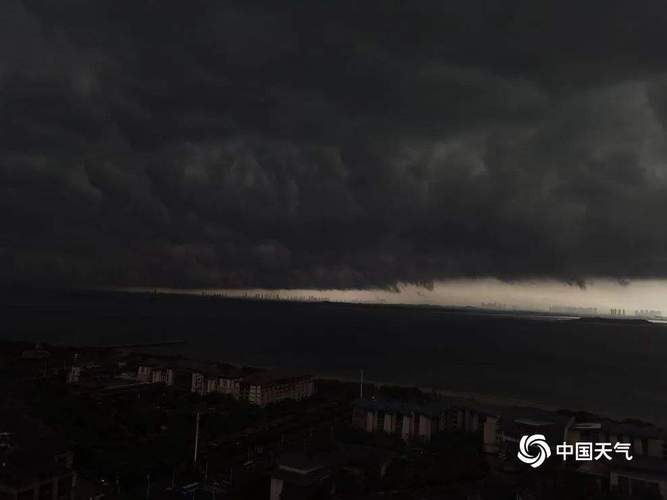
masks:
{"label": "dark sea water between the foreground town and the distant skyline", "polygon": [[0,338],[183,339],[184,356],[437,387],[667,425],[667,325],[119,293],[2,296]]}

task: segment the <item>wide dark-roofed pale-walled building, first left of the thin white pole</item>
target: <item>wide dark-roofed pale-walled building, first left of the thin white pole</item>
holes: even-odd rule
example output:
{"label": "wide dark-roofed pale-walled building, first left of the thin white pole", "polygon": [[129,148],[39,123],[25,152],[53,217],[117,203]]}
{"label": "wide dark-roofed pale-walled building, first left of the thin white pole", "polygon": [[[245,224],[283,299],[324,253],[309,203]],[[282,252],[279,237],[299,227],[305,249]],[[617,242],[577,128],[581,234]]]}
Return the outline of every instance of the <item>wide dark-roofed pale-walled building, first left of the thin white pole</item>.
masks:
{"label": "wide dark-roofed pale-walled building, first left of the thin white pole", "polygon": [[258,406],[286,399],[301,400],[314,393],[312,376],[280,370],[254,373],[244,377],[239,385],[239,397]]}

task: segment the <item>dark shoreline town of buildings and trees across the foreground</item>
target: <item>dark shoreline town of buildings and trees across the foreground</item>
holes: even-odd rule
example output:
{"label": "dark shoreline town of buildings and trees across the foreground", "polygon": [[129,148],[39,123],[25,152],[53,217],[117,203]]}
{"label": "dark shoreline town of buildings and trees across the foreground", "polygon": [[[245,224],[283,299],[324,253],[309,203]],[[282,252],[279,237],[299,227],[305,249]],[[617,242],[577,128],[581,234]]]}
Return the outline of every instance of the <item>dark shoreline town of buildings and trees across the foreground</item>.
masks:
{"label": "dark shoreline town of buildings and trees across the foreground", "polygon": [[[0,344],[0,499],[667,496],[648,423],[149,351]],[[533,434],[538,468],[517,459]],[[556,456],[578,442],[611,456]]]}

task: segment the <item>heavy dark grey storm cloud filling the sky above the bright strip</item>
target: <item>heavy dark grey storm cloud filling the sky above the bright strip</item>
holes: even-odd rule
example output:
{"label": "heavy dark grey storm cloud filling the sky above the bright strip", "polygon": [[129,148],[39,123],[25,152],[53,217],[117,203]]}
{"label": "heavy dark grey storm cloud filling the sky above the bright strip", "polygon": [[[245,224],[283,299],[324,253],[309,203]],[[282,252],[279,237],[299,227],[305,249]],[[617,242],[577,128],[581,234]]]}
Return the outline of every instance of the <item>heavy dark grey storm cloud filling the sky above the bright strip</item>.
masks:
{"label": "heavy dark grey storm cloud filling the sky above the bright strip", "polygon": [[9,0],[0,278],[667,276],[667,4]]}

